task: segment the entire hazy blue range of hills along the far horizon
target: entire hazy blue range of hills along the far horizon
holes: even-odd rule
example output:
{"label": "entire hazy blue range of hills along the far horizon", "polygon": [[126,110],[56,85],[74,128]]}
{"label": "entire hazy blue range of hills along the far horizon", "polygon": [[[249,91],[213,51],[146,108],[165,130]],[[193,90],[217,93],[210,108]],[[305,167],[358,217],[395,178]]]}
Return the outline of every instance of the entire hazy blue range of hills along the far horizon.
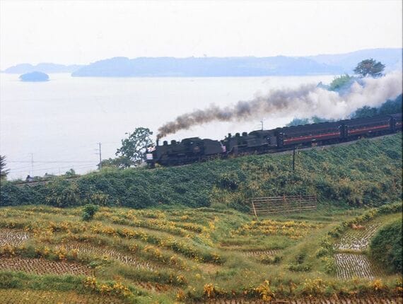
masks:
{"label": "entire hazy blue range of hills along the far horizon", "polygon": [[353,74],[363,59],[385,64],[385,71],[402,71],[401,48],[362,49],[345,54],[320,54],[308,57],[114,57],[88,65],[42,63],[18,64],[4,73],[71,73],[81,77],[214,77],[214,76],[306,76]]}

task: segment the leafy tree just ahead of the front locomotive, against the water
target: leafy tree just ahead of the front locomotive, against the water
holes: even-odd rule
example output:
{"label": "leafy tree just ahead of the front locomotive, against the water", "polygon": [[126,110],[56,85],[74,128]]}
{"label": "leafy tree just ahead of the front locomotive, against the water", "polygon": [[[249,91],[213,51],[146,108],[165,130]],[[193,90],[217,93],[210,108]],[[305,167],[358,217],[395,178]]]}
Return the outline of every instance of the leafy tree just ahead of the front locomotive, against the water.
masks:
{"label": "leafy tree just ahead of the front locomotive, against the water", "polygon": [[115,155],[124,160],[119,166],[128,168],[132,165],[141,164],[144,160],[147,146],[153,144],[153,140],[150,137],[152,134],[153,132],[150,129],[139,127],[134,129],[132,134],[129,133],[129,138],[122,139],[122,147],[117,149],[115,153]]}

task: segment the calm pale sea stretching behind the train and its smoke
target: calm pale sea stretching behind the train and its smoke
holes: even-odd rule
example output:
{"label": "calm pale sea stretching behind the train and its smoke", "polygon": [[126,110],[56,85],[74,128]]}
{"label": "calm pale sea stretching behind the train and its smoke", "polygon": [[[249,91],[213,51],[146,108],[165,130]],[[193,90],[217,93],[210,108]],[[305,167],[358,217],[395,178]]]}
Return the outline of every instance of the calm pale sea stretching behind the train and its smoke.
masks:
{"label": "calm pale sea stretching behind the train and its smoke", "polygon": [[[334,76],[202,78],[100,78],[49,74],[46,82],[23,82],[0,74],[0,155],[8,180],[27,175],[78,174],[97,170],[113,158],[136,127],[153,131],[178,115],[209,105],[226,107],[270,90],[307,83],[330,83]],[[171,134],[223,139],[228,133],[282,127],[294,115],[262,114],[243,122],[214,122]]]}

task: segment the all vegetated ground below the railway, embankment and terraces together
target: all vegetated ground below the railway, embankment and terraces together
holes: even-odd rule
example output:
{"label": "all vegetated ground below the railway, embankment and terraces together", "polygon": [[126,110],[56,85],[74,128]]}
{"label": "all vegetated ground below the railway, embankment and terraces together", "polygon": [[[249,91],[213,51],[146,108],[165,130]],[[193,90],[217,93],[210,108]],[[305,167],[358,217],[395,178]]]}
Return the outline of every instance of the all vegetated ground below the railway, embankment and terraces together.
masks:
{"label": "all vegetated ground below the railway, embankment and terraces together", "polygon": [[[402,215],[401,145],[395,134],[298,151],[295,171],[282,153],[2,182],[0,302],[395,298],[401,276],[378,267],[368,243]],[[247,214],[250,197],[282,194],[320,202]],[[393,265],[398,242],[386,255]]]}

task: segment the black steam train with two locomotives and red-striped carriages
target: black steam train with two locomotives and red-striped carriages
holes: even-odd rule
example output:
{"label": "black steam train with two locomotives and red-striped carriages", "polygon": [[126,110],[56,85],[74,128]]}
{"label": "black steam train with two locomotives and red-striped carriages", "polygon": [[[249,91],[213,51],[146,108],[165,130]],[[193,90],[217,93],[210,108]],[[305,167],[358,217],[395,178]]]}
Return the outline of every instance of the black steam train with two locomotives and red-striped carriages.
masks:
{"label": "black steam train with two locomotives and red-striped carriages", "polygon": [[361,137],[380,136],[402,131],[402,113],[368,118],[345,119],[271,130],[257,130],[249,134],[228,134],[225,139],[199,139],[163,141],[163,145],[148,147],[146,163],[153,168],[159,165],[185,165],[211,158],[226,158],[244,154],[274,153],[298,147],[337,144]]}

